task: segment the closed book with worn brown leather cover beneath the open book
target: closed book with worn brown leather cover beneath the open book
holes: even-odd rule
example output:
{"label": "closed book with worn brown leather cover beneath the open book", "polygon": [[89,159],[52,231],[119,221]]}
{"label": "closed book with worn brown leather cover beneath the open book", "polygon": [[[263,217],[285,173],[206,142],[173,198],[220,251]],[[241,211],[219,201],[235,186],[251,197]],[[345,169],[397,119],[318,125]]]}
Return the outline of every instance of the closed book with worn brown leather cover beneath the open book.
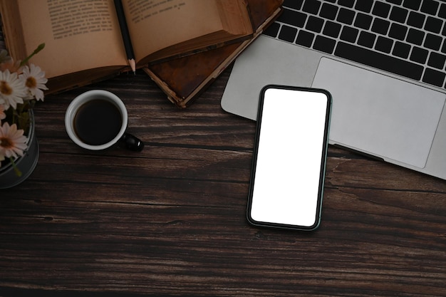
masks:
{"label": "closed book with worn brown leather cover beneath the open book", "polygon": [[255,28],[251,38],[192,56],[152,63],[143,68],[172,103],[185,108],[197,98],[279,16],[283,0],[247,0],[247,3]]}

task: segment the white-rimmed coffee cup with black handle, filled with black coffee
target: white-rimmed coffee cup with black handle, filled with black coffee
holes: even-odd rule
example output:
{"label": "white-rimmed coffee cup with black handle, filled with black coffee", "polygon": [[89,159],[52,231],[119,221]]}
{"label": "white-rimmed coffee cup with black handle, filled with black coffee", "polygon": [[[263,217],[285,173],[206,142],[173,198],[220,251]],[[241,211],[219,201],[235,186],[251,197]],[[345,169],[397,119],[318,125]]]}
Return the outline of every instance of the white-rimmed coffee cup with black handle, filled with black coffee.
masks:
{"label": "white-rimmed coffee cup with black handle, filled with black coffee", "polygon": [[68,105],[65,127],[76,145],[87,150],[105,150],[123,140],[130,150],[140,151],[144,144],[125,132],[128,113],[120,98],[106,90],[89,90]]}

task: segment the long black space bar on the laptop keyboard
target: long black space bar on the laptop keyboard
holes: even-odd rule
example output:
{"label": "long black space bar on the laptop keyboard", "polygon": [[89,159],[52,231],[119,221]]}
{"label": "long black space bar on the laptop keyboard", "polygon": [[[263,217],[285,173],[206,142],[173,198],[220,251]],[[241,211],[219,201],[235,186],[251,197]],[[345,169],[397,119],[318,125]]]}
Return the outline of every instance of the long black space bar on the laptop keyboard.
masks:
{"label": "long black space bar on the laptop keyboard", "polygon": [[335,56],[346,58],[351,61],[363,63],[367,66],[389,71],[408,78],[420,80],[422,66],[408,61],[400,60],[382,53],[370,51],[367,48],[360,48],[340,41],[334,52]]}

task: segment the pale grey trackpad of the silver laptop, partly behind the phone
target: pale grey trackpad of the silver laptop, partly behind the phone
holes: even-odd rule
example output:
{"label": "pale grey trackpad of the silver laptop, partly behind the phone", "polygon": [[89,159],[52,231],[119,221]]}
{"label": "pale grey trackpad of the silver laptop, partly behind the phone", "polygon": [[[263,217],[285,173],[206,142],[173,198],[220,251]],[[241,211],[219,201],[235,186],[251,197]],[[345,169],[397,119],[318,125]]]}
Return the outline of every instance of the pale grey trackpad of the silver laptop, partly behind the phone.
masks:
{"label": "pale grey trackpad of the silver laptop, partly behind the phone", "polygon": [[425,167],[445,94],[329,58],[312,86],[333,96],[331,143]]}

